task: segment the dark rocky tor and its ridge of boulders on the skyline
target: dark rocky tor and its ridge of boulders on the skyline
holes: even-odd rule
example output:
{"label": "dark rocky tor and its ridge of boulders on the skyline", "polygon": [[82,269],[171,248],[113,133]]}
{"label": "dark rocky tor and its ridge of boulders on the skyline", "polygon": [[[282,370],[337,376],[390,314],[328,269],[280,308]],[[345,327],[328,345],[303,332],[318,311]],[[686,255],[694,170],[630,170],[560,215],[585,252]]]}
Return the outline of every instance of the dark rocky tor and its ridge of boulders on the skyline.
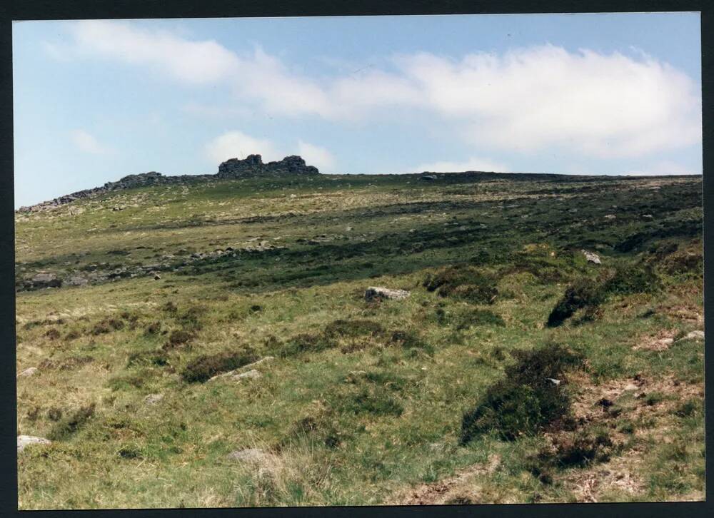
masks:
{"label": "dark rocky tor and its ridge of boulders on the skyline", "polygon": [[186,183],[198,183],[202,181],[211,181],[225,178],[251,178],[255,176],[287,176],[301,175],[313,176],[320,172],[314,166],[306,165],[303,158],[296,155],[286,156],[280,161],[263,163],[260,155],[248,155],[245,159],[230,158],[218,166],[218,173],[215,175],[180,175],[180,176],[164,176],[156,171],[149,173],[141,173],[124,176],[116,182],[107,182],[104,186],[91,189],[84,189],[76,193],[66,194],[53,200],[37,203],[26,207],[20,207],[16,210],[17,213],[32,213],[40,210],[47,210],[72,203],[82,198],[91,198],[96,195],[111,193],[114,191],[123,191],[146,186],[166,186],[166,185],[183,185]]}

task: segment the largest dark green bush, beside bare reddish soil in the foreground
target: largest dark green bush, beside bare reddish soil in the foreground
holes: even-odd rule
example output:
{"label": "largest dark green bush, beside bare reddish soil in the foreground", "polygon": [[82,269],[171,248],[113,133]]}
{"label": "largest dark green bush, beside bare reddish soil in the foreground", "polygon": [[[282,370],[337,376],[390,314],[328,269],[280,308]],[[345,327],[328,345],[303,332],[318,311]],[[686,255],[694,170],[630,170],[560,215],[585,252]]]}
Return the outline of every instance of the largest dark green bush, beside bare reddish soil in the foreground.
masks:
{"label": "largest dark green bush, beside bare reddish soil in the foreground", "polygon": [[570,411],[570,397],[560,380],[580,366],[583,357],[562,345],[514,351],[516,363],[506,367],[502,380],[488,387],[481,402],[463,415],[461,444],[495,431],[505,440],[533,435]]}

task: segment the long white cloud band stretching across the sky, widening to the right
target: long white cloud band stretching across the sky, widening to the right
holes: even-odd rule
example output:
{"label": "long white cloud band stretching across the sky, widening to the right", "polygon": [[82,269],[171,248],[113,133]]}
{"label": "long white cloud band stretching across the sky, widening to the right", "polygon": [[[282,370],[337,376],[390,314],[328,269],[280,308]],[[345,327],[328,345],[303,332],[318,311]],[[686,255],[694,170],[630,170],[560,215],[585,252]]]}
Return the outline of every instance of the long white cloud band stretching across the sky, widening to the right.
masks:
{"label": "long white cloud band stretching across the sky, widening to the right", "polygon": [[126,22],[74,25],[79,54],[143,64],[186,83],[233,86],[236,102],[271,115],[332,121],[418,109],[450,123],[480,148],[532,153],[553,147],[584,156],[644,156],[701,140],[700,87],[642,51],[600,54],[531,46],[451,59],[428,53],[331,78],[298,73],[262,49],[239,55]]}

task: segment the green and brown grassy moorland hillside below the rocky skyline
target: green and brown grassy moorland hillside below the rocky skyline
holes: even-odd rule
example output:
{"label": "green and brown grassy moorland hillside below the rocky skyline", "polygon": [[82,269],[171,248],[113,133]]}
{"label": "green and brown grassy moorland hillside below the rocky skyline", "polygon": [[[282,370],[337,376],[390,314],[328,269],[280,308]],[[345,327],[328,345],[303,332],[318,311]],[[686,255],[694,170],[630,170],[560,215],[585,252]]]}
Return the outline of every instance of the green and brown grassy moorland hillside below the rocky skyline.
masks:
{"label": "green and brown grassy moorland hillside below the rocky skyline", "polygon": [[703,499],[701,220],[700,178],[478,173],[18,213],[19,505]]}

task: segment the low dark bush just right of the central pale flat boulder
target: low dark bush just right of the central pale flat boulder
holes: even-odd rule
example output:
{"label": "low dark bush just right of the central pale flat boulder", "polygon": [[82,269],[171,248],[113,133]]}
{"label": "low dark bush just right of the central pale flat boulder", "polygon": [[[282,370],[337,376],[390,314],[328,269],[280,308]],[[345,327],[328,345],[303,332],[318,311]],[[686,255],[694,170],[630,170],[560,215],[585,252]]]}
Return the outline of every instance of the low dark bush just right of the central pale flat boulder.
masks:
{"label": "low dark bush just right of the central pale flat boulder", "polygon": [[498,279],[473,266],[451,266],[427,275],[422,285],[440,297],[452,297],[474,304],[491,304],[498,295]]}

